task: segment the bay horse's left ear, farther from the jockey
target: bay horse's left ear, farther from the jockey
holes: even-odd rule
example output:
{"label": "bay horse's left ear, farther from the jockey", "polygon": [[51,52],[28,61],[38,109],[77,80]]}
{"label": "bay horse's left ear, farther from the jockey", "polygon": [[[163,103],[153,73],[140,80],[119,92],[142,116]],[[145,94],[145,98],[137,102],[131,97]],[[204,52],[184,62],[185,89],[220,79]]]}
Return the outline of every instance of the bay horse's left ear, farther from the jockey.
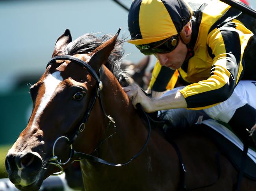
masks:
{"label": "bay horse's left ear, farther from the jockey", "polygon": [[54,51],[52,53],[52,58],[57,55],[64,55],[64,47],[72,41],[72,37],[69,29],[66,29],[65,32],[58,38],[55,43]]}

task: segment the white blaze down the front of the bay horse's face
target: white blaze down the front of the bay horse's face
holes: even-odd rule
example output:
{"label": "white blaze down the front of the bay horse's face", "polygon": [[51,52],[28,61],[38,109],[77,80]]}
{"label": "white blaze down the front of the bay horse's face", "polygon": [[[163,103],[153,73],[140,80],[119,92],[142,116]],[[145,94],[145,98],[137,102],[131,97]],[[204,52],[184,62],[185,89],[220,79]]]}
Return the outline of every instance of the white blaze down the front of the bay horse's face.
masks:
{"label": "white blaze down the front of the bay horse's face", "polygon": [[35,114],[35,118],[33,120],[32,127],[35,125],[35,122],[40,117],[41,113],[43,112],[43,110],[47,106],[48,102],[51,100],[52,95],[54,94],[56,88],[58,87],[58,85],[62,81],[63,81],[63,78],[60,75],[60,71],[56,71],[56,72],[48,75],[45,78],[45,80],[44,80],[44,83],[45,83],[45,94],[43,95],[43,97],[41,99],[41,103],[40,103],[40,105],[39,105],[39,107],[37,109],[37,112]]}

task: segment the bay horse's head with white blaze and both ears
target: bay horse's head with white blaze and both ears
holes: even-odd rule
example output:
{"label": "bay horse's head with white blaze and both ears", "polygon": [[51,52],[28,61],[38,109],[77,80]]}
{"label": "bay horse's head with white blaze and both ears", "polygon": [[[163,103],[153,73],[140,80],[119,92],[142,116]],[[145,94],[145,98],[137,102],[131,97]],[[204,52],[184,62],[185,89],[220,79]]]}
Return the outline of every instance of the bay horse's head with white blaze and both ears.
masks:
{"label": "bay horse's head with white blaze and both ears", "polygon": [[[106,113],[95,99],[102,89],[98,80],[106,85],[103,89],[116,91],[115,87],[108,87],[108,83],[117,79],[107,79],[106,73],[110,72],[105,66],[105,74],[97,76],[115,48],[118,33],[93,51],[83,49],[73,52],[75,54],[72,51],[76,44],[71,43],[68,29],[58,38],[52,57],[66,55],[71,43],[69,55],[86,62],[90,69],[72,60],[54,60],[40,80],[31,86],[32,115],[6,156],[9,178],[17,188],[38,190],[45,178],[59,171],[58,164],[64,164],[65,168],[77,159],[71,157],[72,147],[92,153],[100,142],[109,120],[104,118]],[[118,86],[121,89],[121,85]],[[77,144],[81,141],[82,145]]]}

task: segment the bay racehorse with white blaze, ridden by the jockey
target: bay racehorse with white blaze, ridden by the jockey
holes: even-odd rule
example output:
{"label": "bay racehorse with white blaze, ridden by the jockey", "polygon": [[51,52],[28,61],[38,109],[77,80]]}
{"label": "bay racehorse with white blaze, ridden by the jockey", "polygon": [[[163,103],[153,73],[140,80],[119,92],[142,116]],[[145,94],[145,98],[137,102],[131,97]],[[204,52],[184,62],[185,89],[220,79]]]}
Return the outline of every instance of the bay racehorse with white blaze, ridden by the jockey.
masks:
{"label": "bay racehorse with white blaze, ridden by the jockey", "polygon": [[[175,148],[157,127],[148,141],[148,123],[122,90],[129,84],[118,67],[122,42],[117,35],[91,34],[72,41],[68,29],[58,38],[45,73],[30,88],[28,125],[6,156],[9,179],[18,189],[37,191],[45,178],[79,159],[85,190],[182,190]],[[224,155],[219,179],[204,187],[218,176],[219,150],[213,142],[197,131],[173,136],[173,141],[186,164],[188,188],[233,189],[238,173]],[[255,188],[256,182],[243,179],[241,190]]]}

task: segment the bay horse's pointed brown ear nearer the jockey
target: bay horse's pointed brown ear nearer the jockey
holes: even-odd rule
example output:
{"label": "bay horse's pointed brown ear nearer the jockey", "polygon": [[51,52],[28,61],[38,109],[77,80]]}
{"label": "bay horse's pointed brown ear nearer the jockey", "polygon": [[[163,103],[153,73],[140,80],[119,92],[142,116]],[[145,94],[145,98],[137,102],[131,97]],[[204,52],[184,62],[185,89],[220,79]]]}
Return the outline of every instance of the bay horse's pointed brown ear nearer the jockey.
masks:
{"label": "bay horse's pointed brown ear nearer the jockey", "polygon": [[88,62],[88,64],[91,65],[91,67],[93,67],[95,71],[98,71],[100,69],[100,66],[108,60],[108,56],[115,47],[115,42],[120,31],[121,28],[117,31],[115,36],[104,42],[102,45],[97,47],[92,53],[90,53],[91,59]]}

